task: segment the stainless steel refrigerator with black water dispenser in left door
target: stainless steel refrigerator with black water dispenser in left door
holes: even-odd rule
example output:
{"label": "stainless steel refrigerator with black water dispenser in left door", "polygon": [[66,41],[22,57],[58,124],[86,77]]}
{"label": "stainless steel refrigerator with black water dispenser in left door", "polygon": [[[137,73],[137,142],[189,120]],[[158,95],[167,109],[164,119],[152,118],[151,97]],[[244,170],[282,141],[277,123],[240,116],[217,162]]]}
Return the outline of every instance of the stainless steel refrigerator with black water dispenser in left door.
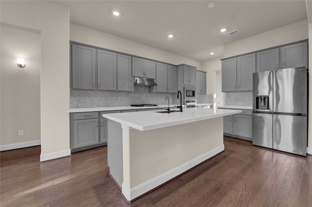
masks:
{"label": "stainless steel refrigerator with black water dispenser in left door", "polygon": [[253,73],[253,144],[307,155],[308,69]]}

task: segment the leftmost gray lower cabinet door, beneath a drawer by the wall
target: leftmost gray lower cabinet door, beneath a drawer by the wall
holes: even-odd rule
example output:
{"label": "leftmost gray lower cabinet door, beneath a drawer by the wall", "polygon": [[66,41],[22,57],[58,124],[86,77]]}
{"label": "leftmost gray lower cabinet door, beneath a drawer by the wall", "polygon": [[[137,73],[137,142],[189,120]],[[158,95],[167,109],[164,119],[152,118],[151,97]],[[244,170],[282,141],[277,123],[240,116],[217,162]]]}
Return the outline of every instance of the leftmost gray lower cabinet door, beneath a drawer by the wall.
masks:
{"label": "leftmost gray lower cabinet door, beneath a drawer by the wall", "polygon": [[98,118],[74,121],[74,148],[98,144]]}

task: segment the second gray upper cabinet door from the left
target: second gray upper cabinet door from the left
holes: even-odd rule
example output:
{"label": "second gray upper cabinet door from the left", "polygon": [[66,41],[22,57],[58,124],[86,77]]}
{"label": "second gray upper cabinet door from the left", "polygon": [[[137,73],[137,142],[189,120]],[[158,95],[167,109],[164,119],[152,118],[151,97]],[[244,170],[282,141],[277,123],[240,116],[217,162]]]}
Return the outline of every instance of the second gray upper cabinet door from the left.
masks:
{"label": "second gray upper cabinet door from the left", "polygon": [[98,90],[117,90],[114,52],[98,50]]}

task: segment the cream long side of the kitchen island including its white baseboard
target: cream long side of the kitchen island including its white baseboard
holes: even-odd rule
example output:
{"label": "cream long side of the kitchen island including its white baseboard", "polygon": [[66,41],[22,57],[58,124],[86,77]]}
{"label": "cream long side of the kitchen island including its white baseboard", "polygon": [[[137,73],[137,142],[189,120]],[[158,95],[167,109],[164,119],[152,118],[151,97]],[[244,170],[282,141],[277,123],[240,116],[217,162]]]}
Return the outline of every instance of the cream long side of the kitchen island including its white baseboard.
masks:
{"label": "cream long side of the kitchen island including its white baseboard", "polygon": [[148,131],[123,129],[125,135],[122,193],[128,200],[224,150],[223,117]]}

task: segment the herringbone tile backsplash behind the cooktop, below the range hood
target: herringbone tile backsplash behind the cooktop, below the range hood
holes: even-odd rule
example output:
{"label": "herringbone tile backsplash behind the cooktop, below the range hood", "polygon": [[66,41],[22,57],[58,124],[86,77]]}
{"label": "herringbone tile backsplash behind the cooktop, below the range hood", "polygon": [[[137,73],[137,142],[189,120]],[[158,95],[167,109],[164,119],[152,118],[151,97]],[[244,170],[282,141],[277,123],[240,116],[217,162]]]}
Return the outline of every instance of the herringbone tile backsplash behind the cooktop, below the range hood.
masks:
{"label": "herringbone tile backsplash behind the cooktop, below the range hood", "polygon": [[130,106],[131,104],[172,104],[172,94],[150,93],[147,86],[135,86],[134,92],[70,91],[70,108]]}

